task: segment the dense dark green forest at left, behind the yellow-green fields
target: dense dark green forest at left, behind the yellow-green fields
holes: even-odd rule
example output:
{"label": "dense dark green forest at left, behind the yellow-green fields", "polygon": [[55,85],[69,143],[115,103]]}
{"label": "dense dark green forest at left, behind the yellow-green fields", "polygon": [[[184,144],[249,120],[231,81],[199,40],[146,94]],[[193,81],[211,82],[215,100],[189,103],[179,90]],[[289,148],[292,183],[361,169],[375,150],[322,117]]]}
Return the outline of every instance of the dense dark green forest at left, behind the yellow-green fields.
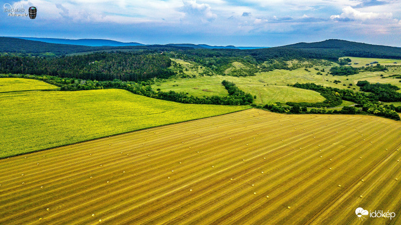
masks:
{"label": "dense dark green forest at left, behind the yellow-green fields", "polygon": [[84,80],[143,81],[168,78],[171,60],[159,53],[94,53],[51,59],[0,57],[0,73],[49,75]]}

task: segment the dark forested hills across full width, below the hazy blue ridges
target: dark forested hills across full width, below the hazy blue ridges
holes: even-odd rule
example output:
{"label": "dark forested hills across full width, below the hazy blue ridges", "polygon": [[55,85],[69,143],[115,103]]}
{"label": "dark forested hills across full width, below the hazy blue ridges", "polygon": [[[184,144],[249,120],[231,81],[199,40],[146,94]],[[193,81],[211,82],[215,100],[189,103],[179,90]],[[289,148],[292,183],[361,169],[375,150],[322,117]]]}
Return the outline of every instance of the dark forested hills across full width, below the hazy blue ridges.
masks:
{"label": "dark forested hills across full width, below the hazy blue ridges", "polygon": [[207,46],[191,44],[92,47],[81,45],[52,44],[18,38],[0,37],[0,55],[4,55],[4,53],[14,53],[18,56],[55,57],[72,53],[115,50],[151,50],[158,52],[176,52],[178,54],[178,57],[199,62],[204,59],[210,61],[209,58],[212,57],[225,58],[224,61],[238,60],[239,58],[241,58],[247,59],[247,61],[250,62],[254,60],[258,63],[278,58],[282,60],[325,59],[330,61],[337,61],[338,58],[342,56],[401,59],[401,48],[369,45],[342,40],[326,40],[323,42],[315,43],[298,43],[267,49],[240,50],[209,49],[207,48]]}

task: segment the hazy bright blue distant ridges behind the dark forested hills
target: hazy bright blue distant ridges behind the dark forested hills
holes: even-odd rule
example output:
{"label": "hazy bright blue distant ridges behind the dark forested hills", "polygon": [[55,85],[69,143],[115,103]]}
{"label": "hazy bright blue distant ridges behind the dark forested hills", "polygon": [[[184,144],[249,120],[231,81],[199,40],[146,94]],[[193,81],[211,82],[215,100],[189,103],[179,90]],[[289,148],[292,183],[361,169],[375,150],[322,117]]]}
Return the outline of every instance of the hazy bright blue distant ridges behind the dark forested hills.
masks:
{"label": "hazy bright blue distant ridges behind the dark forested hills", "polygon": [[[92,47],[100,47],[100,46],[148,46],[145,44],[137,43],[137,42],[117,42],[113,40],[106,39],[60,39],[60,38],[31,38],[31,37],[10,37],[10,38],[19,38],[30,41],[39,41],[53,44],[66,44],[66,45],[82,45],[82,46],[92,46]],[[262,49],[268,47],[236,47],[236,46],[210,46],[205,44],[167,44],[170,46],[177,47],[189,47],[194,49]]]}

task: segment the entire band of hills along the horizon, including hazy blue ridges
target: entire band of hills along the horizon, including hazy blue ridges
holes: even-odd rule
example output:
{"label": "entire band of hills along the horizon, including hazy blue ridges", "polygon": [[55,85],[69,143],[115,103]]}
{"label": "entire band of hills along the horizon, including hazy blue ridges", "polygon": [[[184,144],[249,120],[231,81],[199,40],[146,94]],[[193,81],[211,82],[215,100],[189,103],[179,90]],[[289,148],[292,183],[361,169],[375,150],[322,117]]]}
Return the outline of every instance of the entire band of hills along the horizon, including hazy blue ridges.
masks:
{"label": "entire band of hills along the horizon, including hazy blue ridges", "polygon": [[[34,38],[30,38],[34,39]],[[272,58],[312,58],[338,60],[342,56],[382,58],[382,59],[401,59],[401,48],[370,45],[365,43],[349,42],[344,40],[330,39],[314,43],[297,43],[272,48],[253,48],[253,47],[235,47],[235,46],[209,46],[194,44],[169,44],[169,45],[143,45],[139,43],[123,43],[110,40],[66,40],[66,39],[41,39],[42,41],[32,41],[22,38],[0,37],[0,55],[2,53],[29,54],[30,56],[54,57],[75,53],[91,53],[96,51],[175,51],[180,49],[187,50],[211,50],[208,54],[227,57],[246,57],[251,56],[257,61],[266,61]],[[108,44],[108,46],[85,46],[71,44],[55,44],[44,41],[72,41],[80,44]],[[127,46],[130,44],[131,46]],[[114,45],[114,46],[110,46]],[[117,46],[116,46],[117,45]],[[121,46],[120,46],[121,45]],[[220,49],[219,49],[220,48]],[[245,49],[245,50],[244,50]],[[192,51],[191,54],[197,54],[200,51]],[[199,56],[200,57],[200,56]]]}

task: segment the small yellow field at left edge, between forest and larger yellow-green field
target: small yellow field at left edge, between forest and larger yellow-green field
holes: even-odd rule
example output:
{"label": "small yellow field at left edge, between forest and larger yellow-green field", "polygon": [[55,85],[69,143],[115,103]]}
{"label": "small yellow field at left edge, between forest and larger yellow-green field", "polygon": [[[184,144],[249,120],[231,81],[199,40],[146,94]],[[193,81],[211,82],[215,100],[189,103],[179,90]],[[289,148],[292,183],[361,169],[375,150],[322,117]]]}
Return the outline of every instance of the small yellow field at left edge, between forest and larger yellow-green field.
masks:
{"label": "small yellow field at left edge, between forest and larger yellow-green field", "polygon": [[24,78],[0,78],[0,92],[50,90],[57,88],[57,86],[38,80]]}

